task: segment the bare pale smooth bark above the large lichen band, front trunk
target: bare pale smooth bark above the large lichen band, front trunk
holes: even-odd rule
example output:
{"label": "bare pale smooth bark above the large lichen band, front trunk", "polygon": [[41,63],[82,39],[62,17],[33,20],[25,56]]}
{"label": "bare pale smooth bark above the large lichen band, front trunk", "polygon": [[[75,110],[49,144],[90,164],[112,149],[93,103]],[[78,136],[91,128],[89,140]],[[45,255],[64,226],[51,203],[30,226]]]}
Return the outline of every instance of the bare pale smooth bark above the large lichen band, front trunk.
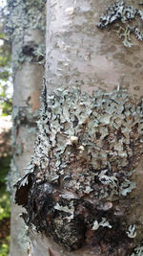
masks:
{"label": "bare pale smooth bark above the large lichen band, front trunk", "polygon": [[[98,88],[112,91],[119,84],[136,97],[143,95],[142,42],[133,36],[133,46],[126,48],[112,25],[110,31],[96,26],[114,2],[48,1],[48,91],[73,85],[87,92]],[[128,6],[141,8],[138,2],[126,1]]]}

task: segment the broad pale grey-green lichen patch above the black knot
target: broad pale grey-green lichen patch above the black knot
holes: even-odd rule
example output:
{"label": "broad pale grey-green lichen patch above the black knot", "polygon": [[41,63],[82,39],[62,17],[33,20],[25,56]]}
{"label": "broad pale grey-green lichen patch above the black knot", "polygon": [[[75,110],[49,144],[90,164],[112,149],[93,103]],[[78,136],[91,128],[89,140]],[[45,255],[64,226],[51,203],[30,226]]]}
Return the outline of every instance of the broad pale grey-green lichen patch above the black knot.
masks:
{"label": "broad pale grey-green lichen patch above the black knot", "polygon": [[[135,158],[130,144],[132,140],[137,145],[142,136],[142,106],[132,103],[126,90],[111,94],[98,91],[92,98],[78,89],[70,92],[60,88],[49,96],[47,109],[42,109],[38,122],[33,163],[43,171],[48,168],[48,181],[58,183],[65,175],[63,186],[73,187],[81,195],[93,191],[97,198],[126,197],[133,191],[135,183],[129,177]],[[68,164],[75,148],[76,158],[90,161],[87,170],[76,167],[78,178]],[[68,183],[66,176],[71,176]],[[93,182],[95,177],[100,186]]]}

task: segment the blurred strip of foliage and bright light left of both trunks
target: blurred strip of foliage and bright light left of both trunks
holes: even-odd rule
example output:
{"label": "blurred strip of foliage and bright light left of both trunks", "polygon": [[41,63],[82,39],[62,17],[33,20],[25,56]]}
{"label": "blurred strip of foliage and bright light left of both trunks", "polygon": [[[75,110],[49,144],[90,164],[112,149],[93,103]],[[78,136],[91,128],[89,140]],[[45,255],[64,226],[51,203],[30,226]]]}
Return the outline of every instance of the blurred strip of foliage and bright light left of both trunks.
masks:
{"label": "blurred strip of foliage and bright light left of both trunks", "polygon": [[10,128],[12,79],[10,42],[6,33],[7,1],[0,0],[0,256],[10,249],[10,193],[7,175],[10,171]]}

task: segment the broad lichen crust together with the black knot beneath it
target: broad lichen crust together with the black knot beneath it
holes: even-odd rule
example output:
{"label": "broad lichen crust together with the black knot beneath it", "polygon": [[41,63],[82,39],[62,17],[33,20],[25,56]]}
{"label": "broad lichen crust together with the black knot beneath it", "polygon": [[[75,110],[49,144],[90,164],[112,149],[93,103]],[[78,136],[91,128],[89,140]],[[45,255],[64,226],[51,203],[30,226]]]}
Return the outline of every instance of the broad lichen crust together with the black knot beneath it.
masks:
{"label": "broad lichen crust together with the black knot beneath it", "polygon": [[91,244],[104,238],[116,250],[124,241],[131,251],[139,222],[130,223],[125,199],[142,154],[143,101],[127,90],[90,96],[77,88],[50,96],[45,88],[42,98],[29,172],[16,184],[25,221],[67,250],[88,245],[90,231]]}

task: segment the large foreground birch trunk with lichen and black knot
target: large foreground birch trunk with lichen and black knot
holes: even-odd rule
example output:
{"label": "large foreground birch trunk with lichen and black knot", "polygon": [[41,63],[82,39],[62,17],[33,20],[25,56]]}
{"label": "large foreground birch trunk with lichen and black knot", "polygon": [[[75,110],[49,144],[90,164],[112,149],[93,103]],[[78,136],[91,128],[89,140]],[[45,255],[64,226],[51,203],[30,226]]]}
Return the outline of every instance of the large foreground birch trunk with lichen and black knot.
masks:
{"label": "large foreground birch trunk with lichen and black knot", "polygon": [[[27,209],[25,221],[42,233],[30,227],[30,255],[143,253],[143,46],[133,37],[133,47],[127,48],[113,29],[97,28],[112,4],[47,1],[39,135],[31,173],[17,183],[16,192],[17,203]],[[65,90],[49,97],[61,86]],[[66,89],[72,86],[86,93]],[[98,89],[106,92],[92,96]],[[20,198],[25,189],[28,196]]]}

